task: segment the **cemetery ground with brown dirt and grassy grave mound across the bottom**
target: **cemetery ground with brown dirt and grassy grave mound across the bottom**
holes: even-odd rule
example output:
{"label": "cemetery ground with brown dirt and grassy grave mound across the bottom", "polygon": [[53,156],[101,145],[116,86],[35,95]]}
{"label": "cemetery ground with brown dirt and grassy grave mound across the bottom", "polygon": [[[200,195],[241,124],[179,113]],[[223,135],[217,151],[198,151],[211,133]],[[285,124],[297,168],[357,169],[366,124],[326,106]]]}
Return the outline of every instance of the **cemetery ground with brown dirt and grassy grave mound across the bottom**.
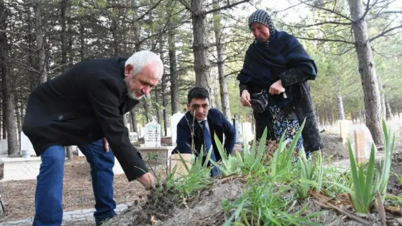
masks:
{"label": "cemetery ground with brown dirt and grassy grave mound across the bottom", "polygon": [[[395,128],[396,129],[396,128]],[[117,204],[133,203],[105,225],[402,225],[402,128],[392,131],[397,136],[391,158],[386,195],[370,205],[370,211],[357,213],[349,193],[355,192],[348,148],[338,135],[323,133],[326,149],[322,151],[325,166],[312,169],[311,177],[300,174],[299,165],[291,169],[291,160],[275,164],[259,146],[246,156],[239,150],[236,160],[222,166],[222,178],[210,178],[209,170],[195,164],[183,178],[173,178],[164,170],[153,191],[138,182],[127,182],[124,175],[115,177]],[[279,144],[280,146],[280,144]],[[279,148],[280,149],[280,148]],[[278,150],[279,150],[278,149]],[[276,151],[286,159],[289,147]],[[266,150],[265,150],[266,151]],[[376,156],[384,156],[380,149]],[[386,155],[385,157],[386,158]],[[281,158],[279,158],[281,159]],[[315,166],[319,166],[315,155]],[[379,158],[376,158],[379,161]],[[384,161],[384,160],[383,160]],[[347,169],[338,167],[347,165]],[[384,165],[384,164],[383,164]],[[362,170],[367,172],[367,164]],[[306,167],[307,168],[307,167]],[[89,166],[85,159],[67,162],[64,181],[64,211],[93,208]],[[268,173],[267,173],[268,172]],[[319,180],[319,172],[322,178]],[[359,172],[360,173],[360,172]],[[375,174],[375,173],[374,173]],[[380,174],[374,175],[379,177]],[[374,180],[371,181],[373,183]],[[367,186],[367,187],[371,187]],[[305,197],[303,195],[305,189]],[[351,190],[348,190],[350,188]],[[12,219],[33,216],[35,181],[0,182],[8,215],[0,224]],[[353,200],[353,198],[352,198]],[[368,212],[368,213],[367,213]],[[270,222],[268,224],[264,224]],[[384,223],[385,222],[385,223]],[[93,225],[93,221],[70,221],[63,225]],[[27,224],[29,225],[29,224]]]}

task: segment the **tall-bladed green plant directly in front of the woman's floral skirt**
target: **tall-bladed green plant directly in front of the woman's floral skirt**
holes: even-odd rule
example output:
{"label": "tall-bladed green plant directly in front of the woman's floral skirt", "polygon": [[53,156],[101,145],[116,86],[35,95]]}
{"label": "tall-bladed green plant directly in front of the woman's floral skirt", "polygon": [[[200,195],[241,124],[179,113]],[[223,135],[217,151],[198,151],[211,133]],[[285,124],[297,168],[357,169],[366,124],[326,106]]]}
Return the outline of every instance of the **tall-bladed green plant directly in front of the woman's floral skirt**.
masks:
{"label": "tall-bladed green plant directly in front of the woman's floral skirt", "polygon": [[287,142],[283,141],[285,132],[282,134],[282,137],[279,141],[278,149],[275,151],[271,159],[272,175],[279,176],[292,169],[293,151],[296,147],[300,135],[302,134],[305,123],[306,120],[303,121],[302,126],[300,126],[300,129],[297,131],[288,149],[286,149]]}

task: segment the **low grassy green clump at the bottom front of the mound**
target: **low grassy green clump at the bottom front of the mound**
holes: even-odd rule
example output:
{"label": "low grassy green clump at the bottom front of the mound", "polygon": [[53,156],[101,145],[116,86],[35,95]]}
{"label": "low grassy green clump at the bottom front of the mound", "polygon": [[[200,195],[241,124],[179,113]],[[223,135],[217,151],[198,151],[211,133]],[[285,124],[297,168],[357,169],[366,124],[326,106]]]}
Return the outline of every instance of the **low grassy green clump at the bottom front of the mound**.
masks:
{"label": "low grassy green clump at the bottom front of the mound", "polygon": [[[228,225],[318,225],[301,211],[291,212],[296,200],[287,200],[289,184],[276,184],[273,176],[258,175],[249,180],[246,193],[240,198],[223,203],[226,212],[233,212],[223,226]],[[257,181],[255,181],[257,180]],[[284,186],[282,186],[284,185]]]}

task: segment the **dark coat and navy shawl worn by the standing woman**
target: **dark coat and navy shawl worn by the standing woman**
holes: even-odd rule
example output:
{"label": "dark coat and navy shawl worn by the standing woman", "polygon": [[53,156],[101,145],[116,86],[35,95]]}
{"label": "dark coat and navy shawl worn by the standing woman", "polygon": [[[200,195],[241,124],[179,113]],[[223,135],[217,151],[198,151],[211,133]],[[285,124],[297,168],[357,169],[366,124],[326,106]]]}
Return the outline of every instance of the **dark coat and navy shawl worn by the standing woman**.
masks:
{"label": "dark coat and navy shawl worn by the standing woman", "polygon": [[[287,98],[283,95],[268,95],[269,104],[279,106],[286,115],[292,112],[299,119],[300,125],[306,119],[302,132],[307,150],[323,149],[323,141],[315,118],[313,100],[308,80],[317,76],[314,60],[299,41],[286,32],[276,32],[268,46],[253,43],[246,52],[243,69],[237,76],[240,81],[240,95],[244,89],[250,93],[269,90],[273,82],[281,80]],[[270,125],[269,109],[254,112],[256,137],[261,137],[265,127]],[[273,135],[269,137],[272,138]]]}

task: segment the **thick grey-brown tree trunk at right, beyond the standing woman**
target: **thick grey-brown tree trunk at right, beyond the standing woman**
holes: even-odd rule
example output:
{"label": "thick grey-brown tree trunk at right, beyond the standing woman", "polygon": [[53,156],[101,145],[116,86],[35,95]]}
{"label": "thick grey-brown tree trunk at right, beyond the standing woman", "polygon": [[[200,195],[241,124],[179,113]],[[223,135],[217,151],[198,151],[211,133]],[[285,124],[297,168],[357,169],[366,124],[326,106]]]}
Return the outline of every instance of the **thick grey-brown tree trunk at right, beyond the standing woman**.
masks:
{"label": "thick grey-brown tree trunk at right, beyond the standing woman", "polygon": [[364,93],[364,109],[366,126],[371,132],[376,145],[383,145],[381,135],[381,111],[380,94],[378,89],[377,75],[375,72],[374,60],[371,54],[371,45],[368,39],[367,23],[361,19],[365,7],[361,0],[349,0],[349,8],[352,20],[353,36],[357,58],[359,61],[359,73]]}

